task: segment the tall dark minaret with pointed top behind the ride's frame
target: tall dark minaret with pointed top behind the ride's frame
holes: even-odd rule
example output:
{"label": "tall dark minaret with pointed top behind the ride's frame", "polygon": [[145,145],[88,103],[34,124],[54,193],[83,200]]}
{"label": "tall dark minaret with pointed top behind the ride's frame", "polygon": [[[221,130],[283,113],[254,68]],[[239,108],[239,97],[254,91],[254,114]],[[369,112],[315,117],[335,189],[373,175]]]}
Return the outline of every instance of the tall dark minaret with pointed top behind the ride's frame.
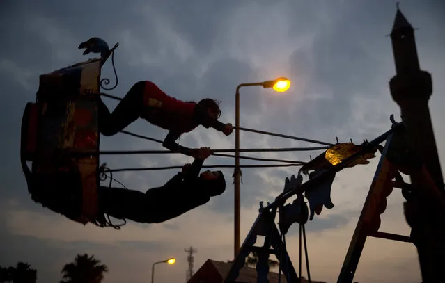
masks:
{"label": "tall dark minaret with pointed top behind the ride's frame", "polygon": [[[432,79],[430,73],[420,68],[414,29],[399,8],[391,42],[396,64],[396,76],[389,82],[391,96],[400,106],[407,141],[421,161],[409,173],[412,193],[404,204],[405,218],[412,228],[423,282],[445,282],[444,179],[428,108]],[[436,187],[428,184],[419,166],[422,164]]]}

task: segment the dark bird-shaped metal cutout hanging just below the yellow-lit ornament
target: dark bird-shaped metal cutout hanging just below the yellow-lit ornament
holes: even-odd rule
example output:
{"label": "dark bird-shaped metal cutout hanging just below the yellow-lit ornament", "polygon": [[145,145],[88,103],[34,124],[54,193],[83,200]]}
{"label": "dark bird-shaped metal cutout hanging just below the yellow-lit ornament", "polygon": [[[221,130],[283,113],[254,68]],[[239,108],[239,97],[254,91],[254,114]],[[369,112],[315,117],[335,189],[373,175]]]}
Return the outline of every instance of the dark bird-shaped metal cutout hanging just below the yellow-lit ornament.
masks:
{"label": "dark bird-shaped metal cutout hanging just below the yellow-lit ornament", "polygon": [[[324,170],[315,170],[309,174],[309,179],[313,179],[320,175]],[[312,220],[314,216],[314,212],[317,215],[320,215],[323,206],[327,209],[332,209],[334,204],[331,201],[331,187],[334,182],[336,173],[332,172],[331,174],[326,175],[322,179],[318,179],[315,183],[308,188],[304,193],[305,197],[309,202],[309,209],[311,214],[309,219]]]}

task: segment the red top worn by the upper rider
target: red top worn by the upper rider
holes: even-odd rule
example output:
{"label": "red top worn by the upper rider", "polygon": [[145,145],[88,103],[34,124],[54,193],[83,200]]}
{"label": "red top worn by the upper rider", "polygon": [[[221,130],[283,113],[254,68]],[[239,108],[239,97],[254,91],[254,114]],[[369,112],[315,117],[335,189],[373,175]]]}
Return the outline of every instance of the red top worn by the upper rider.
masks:
{"label": "red top worn by the upper rider", "polygon": [[146,81],[143,105],[143,118],[162,129],[182,134],[198,127],[192,118],[195,102],[182,102],[170,97],[151,81]]}

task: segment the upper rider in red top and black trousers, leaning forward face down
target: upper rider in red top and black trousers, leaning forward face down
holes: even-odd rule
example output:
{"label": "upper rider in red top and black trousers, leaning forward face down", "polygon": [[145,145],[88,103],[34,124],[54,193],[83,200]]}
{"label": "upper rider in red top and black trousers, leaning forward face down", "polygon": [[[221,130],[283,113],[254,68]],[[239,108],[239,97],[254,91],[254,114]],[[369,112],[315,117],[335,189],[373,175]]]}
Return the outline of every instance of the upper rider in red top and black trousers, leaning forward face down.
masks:
{"label": "upper rider in red top and black trousers, leaning forward face down", "polygon": [[175,141],[200,124],[206,128],[222,131],[226,136],[233,131],[232,124],[223,124],[217,119],[221,115],[219,105],[213,99],[200,102],[182,102],[166,95],[155,83],[139,81],[110,113],[102,99],[99,99],[99,131],[104,136],[113,136],[138,118],[143,118],[162,129],[169,130],[162,144],[167,149],[195,156],[197,149],[178,145]]}

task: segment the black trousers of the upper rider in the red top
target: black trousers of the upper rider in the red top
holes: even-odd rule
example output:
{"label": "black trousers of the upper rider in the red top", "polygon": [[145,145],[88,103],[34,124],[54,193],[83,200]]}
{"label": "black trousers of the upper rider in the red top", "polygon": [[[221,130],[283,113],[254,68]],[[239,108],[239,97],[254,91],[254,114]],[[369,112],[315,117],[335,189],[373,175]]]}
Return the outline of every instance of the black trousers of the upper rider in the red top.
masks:
{"label": "black trousers of the upper rider in the red top", "polygon": [[110,113],[102,99],[99,99],[99,131],[104,136],[114,136],[132,122],[141,117],[143,113],[143,92],[145,82],[135,83],[127,92],[118,106]]}

